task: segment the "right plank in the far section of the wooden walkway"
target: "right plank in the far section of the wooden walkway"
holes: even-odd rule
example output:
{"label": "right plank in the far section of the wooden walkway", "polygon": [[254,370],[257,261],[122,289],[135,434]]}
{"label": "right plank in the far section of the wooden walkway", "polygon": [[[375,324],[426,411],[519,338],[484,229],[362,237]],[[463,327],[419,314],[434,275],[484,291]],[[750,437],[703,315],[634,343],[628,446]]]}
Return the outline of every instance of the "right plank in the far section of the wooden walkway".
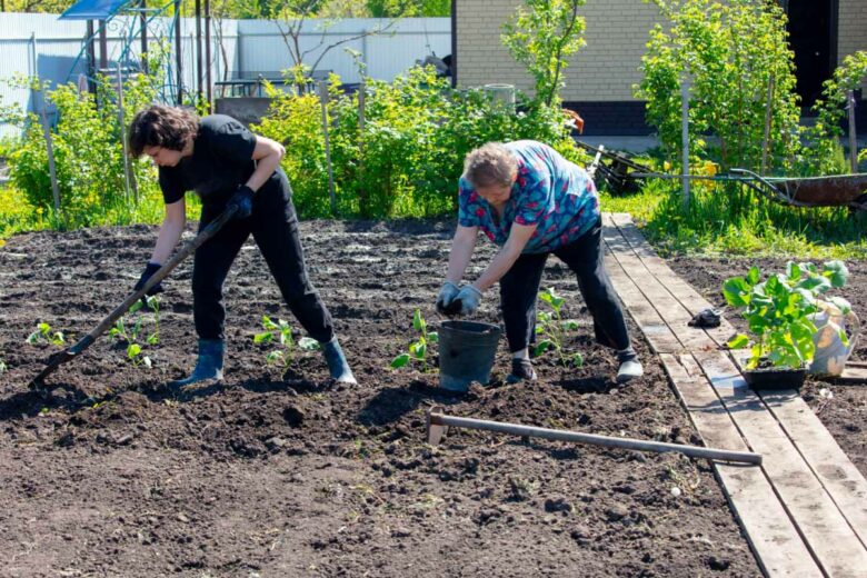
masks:
{"label": "right plank in the far section of the wooden walkway", "polygon": [[[629,213],[612,213],[611,222],[617,226],[620,233],[647,270],[675,296],[675,298],[689,311],[690,316],[695,316],[702,309],[714,308],[710,301],[705,299],[689,283],[675,273],[656,251],[654,251],[652,247],[650,247],[635,226],[635,222],[632,222],[632,218]],[[726,345],[731,336],[736,333],[735,328],[725,318],[721,320],[719,327],[705,329],[705,331],[719,346]]]}

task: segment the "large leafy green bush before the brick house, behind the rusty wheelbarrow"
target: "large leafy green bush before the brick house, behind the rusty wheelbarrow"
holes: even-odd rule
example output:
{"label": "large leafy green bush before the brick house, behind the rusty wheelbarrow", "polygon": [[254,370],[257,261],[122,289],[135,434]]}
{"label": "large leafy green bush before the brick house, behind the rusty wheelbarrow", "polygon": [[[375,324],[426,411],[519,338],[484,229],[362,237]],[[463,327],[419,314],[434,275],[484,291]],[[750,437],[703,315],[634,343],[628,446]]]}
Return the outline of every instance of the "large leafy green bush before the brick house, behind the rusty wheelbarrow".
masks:
{"label": "large leafy green bush before the brick house, behind the rusty wheelbarrow", "polygon": [[710,156],[722,171],[760,170],[769,113],[766,170],[788,168],[800,150],[800,109],[779,3],[648,1],[667,22],[650,31],[635,93],[647,101],[647,120],[657,128],[671,165],[681,163],[680,87],[689,79],[690,156]]}

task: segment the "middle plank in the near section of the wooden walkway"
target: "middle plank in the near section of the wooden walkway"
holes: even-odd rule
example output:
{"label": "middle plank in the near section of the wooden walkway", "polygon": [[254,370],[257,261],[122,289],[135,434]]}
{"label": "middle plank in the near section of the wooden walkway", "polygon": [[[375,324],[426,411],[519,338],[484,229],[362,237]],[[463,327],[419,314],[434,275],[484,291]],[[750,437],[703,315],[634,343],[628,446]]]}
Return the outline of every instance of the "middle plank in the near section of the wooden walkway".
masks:
{"label": "middle plank in the near section of the wooden walkway", "polygon": [[[737,371],[721,351],[699,351],[694,358],[711,380]],[[823,571],[828,576],[865,576],[867,549],[761,399],[748,388],[716,391],[749,447],[761,454],[761,469]]]}

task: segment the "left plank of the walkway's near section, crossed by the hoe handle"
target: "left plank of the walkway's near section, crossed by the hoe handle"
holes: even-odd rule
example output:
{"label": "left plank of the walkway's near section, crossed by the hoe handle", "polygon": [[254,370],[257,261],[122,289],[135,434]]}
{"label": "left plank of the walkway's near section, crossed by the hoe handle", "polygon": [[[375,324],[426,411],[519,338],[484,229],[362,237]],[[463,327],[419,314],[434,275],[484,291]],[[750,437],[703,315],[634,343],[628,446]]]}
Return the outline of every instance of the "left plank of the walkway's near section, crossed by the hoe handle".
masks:
{"label": "left plank of the walkway's near section, crossed by the hoe handle", "polygon": [[[706,445],[747,450],[725,407],[688,355],[661,355],[675,391]],[[766,576],[821,576],[761,468],[712,462],[722,492]]]}

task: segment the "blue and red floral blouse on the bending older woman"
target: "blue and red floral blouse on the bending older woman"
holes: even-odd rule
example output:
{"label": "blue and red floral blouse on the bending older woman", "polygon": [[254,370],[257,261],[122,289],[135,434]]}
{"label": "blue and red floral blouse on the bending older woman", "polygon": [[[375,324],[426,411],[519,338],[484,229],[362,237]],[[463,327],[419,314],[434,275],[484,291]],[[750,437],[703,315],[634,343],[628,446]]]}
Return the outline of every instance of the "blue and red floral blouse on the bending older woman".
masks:
{"label": "blue and red floral blouse on the bending older woman", "polygon": [[511,225],[536,225],[525,253],[552,252],[565,247],[599,219],[599,196],[587,171],[547,144],[534,140],[507,142],[518,159],[518,178],[502,217],[464,177],[459,181],[458,223],[478,227],[498,246],[506,243]]}

